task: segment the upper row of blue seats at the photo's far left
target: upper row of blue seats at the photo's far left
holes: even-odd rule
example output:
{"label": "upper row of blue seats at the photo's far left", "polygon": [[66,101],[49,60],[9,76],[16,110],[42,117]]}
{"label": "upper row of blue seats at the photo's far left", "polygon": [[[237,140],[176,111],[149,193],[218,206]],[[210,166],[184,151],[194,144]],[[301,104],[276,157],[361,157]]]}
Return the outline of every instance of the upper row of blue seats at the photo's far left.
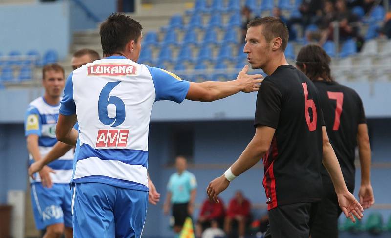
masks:
{"label": "upper row of blue seats at the photo's far left", "polygon": [[11,51],[8,55],[0,53],[0,66],[43,66],[46,64],[56,63],[58,61],[58,53],[55,50],[48,50],[43,57],[38,51],[30,50],[26,54],[21,54],[19,51]]}

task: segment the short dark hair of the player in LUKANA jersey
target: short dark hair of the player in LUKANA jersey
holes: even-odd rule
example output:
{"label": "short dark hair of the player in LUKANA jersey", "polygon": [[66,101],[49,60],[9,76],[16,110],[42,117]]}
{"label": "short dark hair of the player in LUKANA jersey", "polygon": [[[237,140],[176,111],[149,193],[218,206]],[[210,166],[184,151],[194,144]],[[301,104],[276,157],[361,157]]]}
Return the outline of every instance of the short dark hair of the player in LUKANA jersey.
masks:
{"label": "short dark hair of the player in LUKANA jersey", "polygon": [[129,16],[115,12],[111,14],[100,26],[102,51],[104,56],[122,52],[125,45],[141,35],[143,27]]}

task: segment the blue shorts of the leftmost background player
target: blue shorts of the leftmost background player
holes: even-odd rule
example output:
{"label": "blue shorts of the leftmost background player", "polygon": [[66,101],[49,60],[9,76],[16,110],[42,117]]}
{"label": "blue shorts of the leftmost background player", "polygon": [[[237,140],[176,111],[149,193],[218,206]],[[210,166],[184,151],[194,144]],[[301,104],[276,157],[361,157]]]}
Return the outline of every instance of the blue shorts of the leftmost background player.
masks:
{"label": "blue shorts of the leftmost background player", "polygon": [[54,183],[53,187],[46,188],[41,183],[32,183],[31,201],[38,230],[57,223],[72,227],[69,184]]}

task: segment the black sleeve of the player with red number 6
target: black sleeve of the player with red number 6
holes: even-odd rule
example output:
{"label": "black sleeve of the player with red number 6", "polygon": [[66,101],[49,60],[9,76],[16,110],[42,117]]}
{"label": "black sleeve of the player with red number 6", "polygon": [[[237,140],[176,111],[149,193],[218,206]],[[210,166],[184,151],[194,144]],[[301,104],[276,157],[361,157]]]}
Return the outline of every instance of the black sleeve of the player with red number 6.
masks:
{"label": "black sleeve of the player with red number 6", "polygon": [[254,126],[268,126],[277,129],[280,118],[282,94],[267,78],[262,82],[257,95]]}

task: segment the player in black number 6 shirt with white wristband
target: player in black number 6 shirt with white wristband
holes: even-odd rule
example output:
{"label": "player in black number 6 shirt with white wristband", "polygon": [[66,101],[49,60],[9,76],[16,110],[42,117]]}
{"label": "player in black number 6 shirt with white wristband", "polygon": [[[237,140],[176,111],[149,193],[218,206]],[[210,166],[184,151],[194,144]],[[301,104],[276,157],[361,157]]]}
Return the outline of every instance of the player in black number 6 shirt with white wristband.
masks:
{"label": "player in black number 6 shirt with white wristband", "polygon": [[269,75],[258,92],[256,132],[239,159],[209,184],[207,193],[218,202],[217,195],[230,181],[263,157],[269,236],[308,238],[322,196],[321,163],[330,173],[345,216],[361,219],[363,208],[345,185],[315,86],[286,62],[287,42],[288,30],[278,18],[248,24],[244,52],[252,68]]}

